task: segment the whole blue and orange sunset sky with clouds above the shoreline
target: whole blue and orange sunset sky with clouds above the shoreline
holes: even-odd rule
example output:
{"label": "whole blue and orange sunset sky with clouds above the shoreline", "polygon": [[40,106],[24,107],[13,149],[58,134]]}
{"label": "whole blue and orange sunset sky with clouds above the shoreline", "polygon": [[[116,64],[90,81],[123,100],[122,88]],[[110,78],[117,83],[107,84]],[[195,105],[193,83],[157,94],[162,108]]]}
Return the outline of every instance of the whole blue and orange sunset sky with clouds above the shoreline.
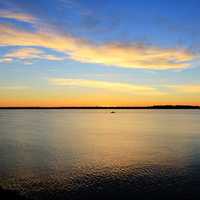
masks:
{"label": "whole blue and orange sunset sky with clouds above the shoreline", "polygon": [[199,0],[0,0],[0,106],[200,105]]}

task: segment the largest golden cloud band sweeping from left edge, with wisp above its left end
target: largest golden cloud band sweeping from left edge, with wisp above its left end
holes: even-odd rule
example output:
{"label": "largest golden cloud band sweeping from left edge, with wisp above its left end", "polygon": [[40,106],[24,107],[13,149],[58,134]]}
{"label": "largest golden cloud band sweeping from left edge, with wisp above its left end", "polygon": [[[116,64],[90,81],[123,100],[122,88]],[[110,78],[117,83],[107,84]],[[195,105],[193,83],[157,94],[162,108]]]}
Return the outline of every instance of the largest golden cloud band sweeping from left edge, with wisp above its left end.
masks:
{"label": "largest golden cloud band sweeping from left edge, with wisp above its left end", "polygon": [[[24,14],[4,13],[0,16],[30,23],[35,21],[34,17],[31,18],[31,16]],[[160,48],[120,42],[97,45],[72,35],[48,29],[48,26],[46,28],[43,26],[42,29],[39,27],[41,26],[36,26],[36,30],[31,32],[7,24],[0,24],[0,46],[44,47],[62,52],[69,59],[77,62],[121,68],[183,69],[190,67],[190,62],[195,59],[192,52],[182,48]]]}

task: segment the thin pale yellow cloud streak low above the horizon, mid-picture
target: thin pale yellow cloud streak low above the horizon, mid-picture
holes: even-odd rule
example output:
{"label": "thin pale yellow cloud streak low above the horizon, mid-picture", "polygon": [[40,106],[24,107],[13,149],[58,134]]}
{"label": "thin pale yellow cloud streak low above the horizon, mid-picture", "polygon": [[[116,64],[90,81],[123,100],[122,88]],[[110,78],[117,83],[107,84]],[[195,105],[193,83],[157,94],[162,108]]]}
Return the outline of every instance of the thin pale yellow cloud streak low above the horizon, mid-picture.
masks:
{"label": "thin pale yellow cloud streak low above the horizon, mid-picture", "polygon": [[130,83],[108,82],[86,79],[49,78],[49,83],[55,86],[74,86],[83,88],[106,89],[115,92],[130,92],[133,94],[162,94],[154,87],[147,85],[134,85]]}

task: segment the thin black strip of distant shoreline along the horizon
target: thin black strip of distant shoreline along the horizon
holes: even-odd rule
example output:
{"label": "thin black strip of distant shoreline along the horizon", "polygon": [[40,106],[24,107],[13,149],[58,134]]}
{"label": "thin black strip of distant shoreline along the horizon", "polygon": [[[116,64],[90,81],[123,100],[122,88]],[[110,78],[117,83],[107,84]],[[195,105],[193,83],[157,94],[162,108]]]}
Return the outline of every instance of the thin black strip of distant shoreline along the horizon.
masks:
{"label": "thin black strip of distant shoreline along the horizon", "polygon": [[28,106],[28,107],[0,107],[0,109],[200,109],[200,106],[191,105],[155,105],[155,106],[62,106],[62,107],[46,107],[46,106]]}

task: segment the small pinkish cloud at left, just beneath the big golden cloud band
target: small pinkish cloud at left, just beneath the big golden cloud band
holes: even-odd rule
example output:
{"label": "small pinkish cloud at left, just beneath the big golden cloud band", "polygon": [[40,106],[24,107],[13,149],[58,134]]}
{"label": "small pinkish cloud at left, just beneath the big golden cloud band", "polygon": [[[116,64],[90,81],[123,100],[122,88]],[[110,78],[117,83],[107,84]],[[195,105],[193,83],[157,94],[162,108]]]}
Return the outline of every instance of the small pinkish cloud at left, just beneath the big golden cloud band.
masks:
{"label": "small pinkish cloud at left, just beneath the big golden cloud band", "polygon": [[46,54],[44,51],[37,48],[20,48],[17,50],[12,50],[5,54],[2,58],[3,61],[13,61],[14,59],[24,60],[28,62],[34,59],[45,59],[50,61],[61,61],[64,60],[63,57],[58,57],[51,54]]}

